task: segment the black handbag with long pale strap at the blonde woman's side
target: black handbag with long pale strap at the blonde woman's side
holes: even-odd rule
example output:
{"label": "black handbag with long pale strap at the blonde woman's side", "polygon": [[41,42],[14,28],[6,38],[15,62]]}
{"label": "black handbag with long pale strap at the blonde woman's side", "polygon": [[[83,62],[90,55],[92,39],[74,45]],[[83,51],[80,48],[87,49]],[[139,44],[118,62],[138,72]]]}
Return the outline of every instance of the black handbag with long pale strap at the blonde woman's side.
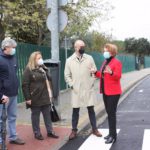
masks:
{"label": "black handbag with long pale strap at the blonde woman's side", "polygon": [[42,71],[45,74],[46,86],[47,86],[49,99],[50,99],[50,116],[51,116],[51,120],[52,120],[52,122],[57,122],[57,121],[60,120],[60,118],[59,118],[59,115],[57,113],[57,110],[56,110],[55,105],[54,105],[53,100],[52,100],[52,90],[51,90],[51,87],[49,85],[49,81],[48,81],[48,78],[46,76],[46,72],[43,69],[42,69]]}

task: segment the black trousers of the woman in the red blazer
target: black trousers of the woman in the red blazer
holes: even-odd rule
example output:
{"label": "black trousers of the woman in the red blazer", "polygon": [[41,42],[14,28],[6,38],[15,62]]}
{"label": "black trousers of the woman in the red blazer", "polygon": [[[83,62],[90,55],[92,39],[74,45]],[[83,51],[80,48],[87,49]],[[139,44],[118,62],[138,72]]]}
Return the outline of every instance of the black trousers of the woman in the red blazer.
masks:
{"label": "black trousers of the woman in the red blazer", "polygon": [[108,114],[108,125],[109,125],[109,135],[116,137],[116,111],[117,104],[119,101],[120,95],[105,95],[103,94],[103,100],[106,112]]}

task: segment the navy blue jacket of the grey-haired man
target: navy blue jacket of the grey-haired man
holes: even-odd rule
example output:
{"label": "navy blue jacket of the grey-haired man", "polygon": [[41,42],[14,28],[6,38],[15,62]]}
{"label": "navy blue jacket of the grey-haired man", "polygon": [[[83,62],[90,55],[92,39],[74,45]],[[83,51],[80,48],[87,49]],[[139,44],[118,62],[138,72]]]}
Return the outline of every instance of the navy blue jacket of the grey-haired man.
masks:
{"label": "navy blue jacket of the grey-haired man", "polygon": [[17,68],[16,57],[5,55],[0,49],[0,98],[2,95],[11,97],[18,94]]}

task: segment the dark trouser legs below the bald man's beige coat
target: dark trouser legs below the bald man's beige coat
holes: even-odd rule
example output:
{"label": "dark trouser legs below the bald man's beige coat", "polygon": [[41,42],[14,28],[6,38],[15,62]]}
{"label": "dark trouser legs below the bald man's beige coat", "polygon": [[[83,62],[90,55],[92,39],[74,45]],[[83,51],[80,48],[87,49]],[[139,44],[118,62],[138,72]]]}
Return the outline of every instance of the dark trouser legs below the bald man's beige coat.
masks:
{"label": "dark trouser legs below the bald man's beige coat", "polygon": [[[88,109],[88,115],[89,115],[92,129],[95,130],[95,129],[97,129],[97,126],[96,126],[96,117],[95,117],[94,106],[89,106],[89,107],[87,107],[87,109]],[[78,121],[79,121],[79,111],[80,111],[80,108],[73,108],[72,130],[74,130],[74,131],[78,130],[77,126],[78,126]]]}

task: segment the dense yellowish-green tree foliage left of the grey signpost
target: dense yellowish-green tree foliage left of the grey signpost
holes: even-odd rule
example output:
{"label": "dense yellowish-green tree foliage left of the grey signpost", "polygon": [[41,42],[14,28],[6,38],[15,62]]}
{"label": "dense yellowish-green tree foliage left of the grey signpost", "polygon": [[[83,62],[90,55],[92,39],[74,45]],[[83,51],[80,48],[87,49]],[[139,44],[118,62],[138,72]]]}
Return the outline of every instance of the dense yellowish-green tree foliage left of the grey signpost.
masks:
{"label": "dense yellowish-green tree foliage left of the grey signpost", "polygon": [[45,0],[8,0],[3,2],[5,33],[19,42],[42,44],[46,28]]}

